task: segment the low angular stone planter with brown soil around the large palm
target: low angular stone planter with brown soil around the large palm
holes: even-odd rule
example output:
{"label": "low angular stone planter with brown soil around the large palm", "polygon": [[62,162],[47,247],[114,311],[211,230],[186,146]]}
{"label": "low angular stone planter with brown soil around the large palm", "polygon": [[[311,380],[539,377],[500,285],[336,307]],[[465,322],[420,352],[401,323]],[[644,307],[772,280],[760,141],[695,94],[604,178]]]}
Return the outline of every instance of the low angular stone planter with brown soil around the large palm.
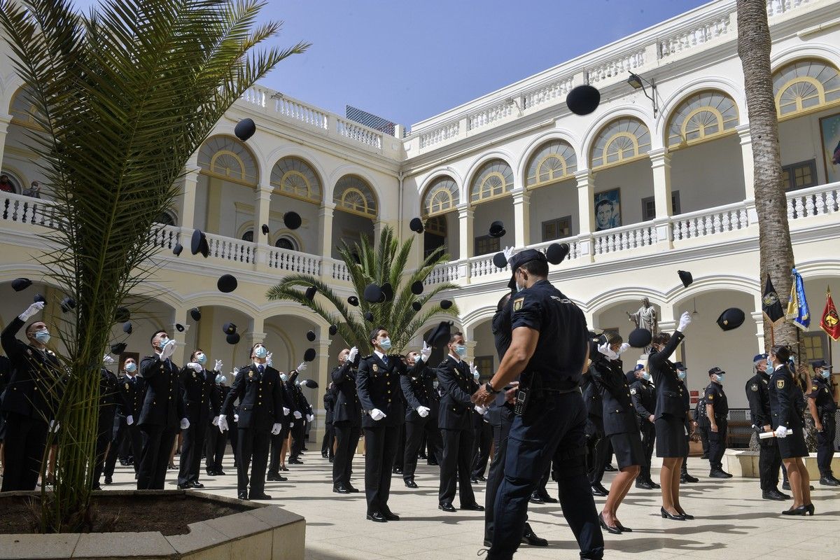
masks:
{"label": "low angular stone planter with brown soil around the large palm", "polygon": [[[206,495],[194,490],[124,490],[97,492],[99,516],[117,513],[126,518],[123,527],[136,531],[0,534],[0,559],[79,558],[102,560],[160,558],[215,560],[270,558],[299,560],[304,556],[306,521],[277,506]],[[8,492],[0,495],[0,519],[20,515],[21,506],[38,500],[40,492]],[[129,505],[130,510],[124,508]],[[188,510],[181,522],[159,512]],[[216,512],[216,516],[213,516]],[[155,530],[155,524],[160,529]],[[7,525],[8,527],[8,522]],[[165,534],[168,533],[168,534]]]}

